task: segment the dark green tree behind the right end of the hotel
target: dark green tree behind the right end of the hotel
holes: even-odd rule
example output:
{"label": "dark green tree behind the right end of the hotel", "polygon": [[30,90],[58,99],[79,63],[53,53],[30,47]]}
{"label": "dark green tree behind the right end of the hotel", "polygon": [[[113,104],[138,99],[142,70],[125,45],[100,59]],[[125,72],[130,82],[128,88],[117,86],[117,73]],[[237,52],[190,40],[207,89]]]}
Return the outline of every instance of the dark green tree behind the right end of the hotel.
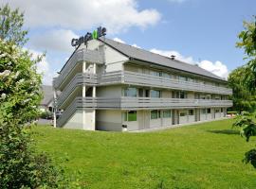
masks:
{"label": "dark green tree behind the right end of the hotel", "polygon": [[233,70],[229,74],[229,87],[233,91],[233,109],[238,112],[253,112],[256,108],[256,95],[250,92],[244,83],[245,77],[251,74],[251,70],[242,66]]}

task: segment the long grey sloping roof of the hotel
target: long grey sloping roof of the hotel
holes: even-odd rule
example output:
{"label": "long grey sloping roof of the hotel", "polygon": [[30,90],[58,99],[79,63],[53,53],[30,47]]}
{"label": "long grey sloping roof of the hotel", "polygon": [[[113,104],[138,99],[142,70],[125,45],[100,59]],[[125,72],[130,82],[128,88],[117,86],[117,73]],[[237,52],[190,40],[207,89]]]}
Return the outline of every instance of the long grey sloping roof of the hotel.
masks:
{"label": "long grey sloping roof of the hotel", "polygon": [[[105,37],[100,38],[101,42],[108,44],[109,46],[113,47],[114,49],[118,50],[121,54],[132,58],[134,60],[142,60],[150,63],[155,63],[161,66],[174,68],[176,70],[185,71],[188,73],[204,76],[204,77],[210,77],[214,79],[218,79],[221,81],[226,81],[222,77],[218,77],[209,71],[200,68],[197,65],[186,63],[180,60],[172,60],[171,58],[152,53],[147,50],[143,50],[140,48],[137,48],[135,46],[131,46],[125,43],[119,43],[114,40],[107,39]],[[171,56],[171,55],[170,55]]]}

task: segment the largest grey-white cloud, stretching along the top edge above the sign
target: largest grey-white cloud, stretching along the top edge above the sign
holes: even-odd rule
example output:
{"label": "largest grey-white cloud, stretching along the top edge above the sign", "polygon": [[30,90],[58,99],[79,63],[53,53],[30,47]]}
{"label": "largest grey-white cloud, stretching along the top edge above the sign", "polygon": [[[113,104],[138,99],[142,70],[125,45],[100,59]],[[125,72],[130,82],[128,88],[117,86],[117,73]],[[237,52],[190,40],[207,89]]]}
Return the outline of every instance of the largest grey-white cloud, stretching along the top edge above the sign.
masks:
{"label": "largest grey-white cloud, stretching along the top edge above the sign", "polygon": [[119,33],[132,26],[145,29],[161,19],[156,9],[138,9],[137,0],[4,0],[12,8],[25,10],[28,27],[90,29],[106,26]]}

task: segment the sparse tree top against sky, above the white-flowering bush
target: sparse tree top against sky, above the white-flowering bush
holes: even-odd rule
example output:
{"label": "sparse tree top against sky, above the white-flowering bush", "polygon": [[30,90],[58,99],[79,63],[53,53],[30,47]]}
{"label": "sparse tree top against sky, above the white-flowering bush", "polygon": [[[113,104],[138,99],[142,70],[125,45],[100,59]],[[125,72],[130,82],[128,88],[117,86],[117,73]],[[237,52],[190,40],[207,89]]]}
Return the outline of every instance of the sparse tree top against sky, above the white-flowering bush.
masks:
{"label": "sparse tree top against sky, above the white-flowering bush", "polygon": [[16,45],[27,43],[27,30],[23,30],[24,13],[19,9],[11,10],[9,5],[0,9],[0,38]]}

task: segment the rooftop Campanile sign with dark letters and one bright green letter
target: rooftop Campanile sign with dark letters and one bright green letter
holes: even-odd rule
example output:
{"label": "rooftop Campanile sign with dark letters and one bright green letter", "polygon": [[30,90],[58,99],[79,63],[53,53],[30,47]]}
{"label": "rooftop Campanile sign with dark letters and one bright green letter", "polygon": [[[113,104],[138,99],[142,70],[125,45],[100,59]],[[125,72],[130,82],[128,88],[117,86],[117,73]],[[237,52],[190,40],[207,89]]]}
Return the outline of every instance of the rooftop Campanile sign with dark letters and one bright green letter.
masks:
{"label": "rooftop Campanile sign with dark letters and one bright green letter", "polygon": [[106,35],[106,28],[100,26],[96,30],[94,30],[92,33],[87,32],[85,36],[82,36],[79,39],[72,39],[71,45],[78,46],[82,43],[86,44],[90,40],[98,39],[101,36],[105,36],[105,35]]}

